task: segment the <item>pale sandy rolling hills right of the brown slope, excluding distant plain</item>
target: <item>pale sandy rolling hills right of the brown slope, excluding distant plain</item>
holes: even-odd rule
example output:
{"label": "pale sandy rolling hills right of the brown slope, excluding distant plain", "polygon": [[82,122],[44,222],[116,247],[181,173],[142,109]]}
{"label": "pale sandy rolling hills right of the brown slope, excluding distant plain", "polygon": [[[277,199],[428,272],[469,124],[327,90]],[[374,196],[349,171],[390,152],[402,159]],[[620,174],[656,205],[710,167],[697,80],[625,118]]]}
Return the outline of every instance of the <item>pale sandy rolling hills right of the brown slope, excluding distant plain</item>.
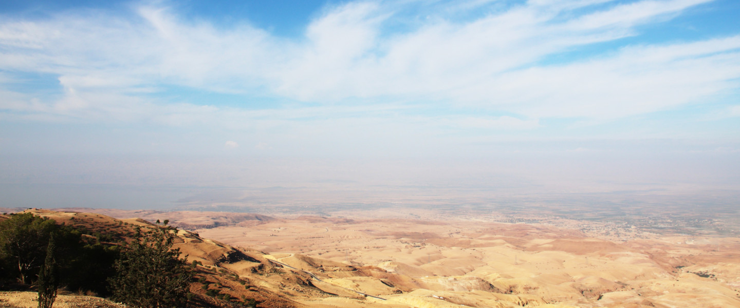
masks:
{"label": "pale sandy rolling hills right of the brown slope, excluding distant plain", "polygon": [[[740,307],[734,238],[610,242],[542,225],[321,217],[197,231],[322,271],[330,284],[386,298],[382,305]],[[332,271],[337,264],[369,269]]]}

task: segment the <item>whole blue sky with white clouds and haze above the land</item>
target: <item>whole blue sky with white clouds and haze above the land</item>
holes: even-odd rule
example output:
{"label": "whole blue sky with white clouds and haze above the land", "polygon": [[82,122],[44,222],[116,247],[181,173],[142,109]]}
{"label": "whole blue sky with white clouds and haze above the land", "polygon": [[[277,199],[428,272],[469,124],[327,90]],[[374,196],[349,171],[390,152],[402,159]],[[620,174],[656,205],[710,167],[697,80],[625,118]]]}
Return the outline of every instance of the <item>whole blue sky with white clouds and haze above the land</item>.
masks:
{"label": "whole blue sky with white clouds and haze above the land", "polygon": [[736,196],[737,16],[736,0],[0,1],[0,207]]}

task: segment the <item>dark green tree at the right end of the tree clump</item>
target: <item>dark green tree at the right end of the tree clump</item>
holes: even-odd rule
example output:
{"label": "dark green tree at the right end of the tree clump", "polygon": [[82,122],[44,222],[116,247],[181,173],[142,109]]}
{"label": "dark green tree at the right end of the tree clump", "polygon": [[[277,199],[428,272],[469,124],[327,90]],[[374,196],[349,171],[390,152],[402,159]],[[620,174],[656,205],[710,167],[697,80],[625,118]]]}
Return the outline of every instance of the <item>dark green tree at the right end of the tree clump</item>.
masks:
{"label": "dark green tree at the right end of the tree clump", "polygon": [[135,240],[115,261],[117,275],[109,278],[112,299],[133,307],[183,307],[192,273],[179,249],[172,249],[177,229],[156,227]]}

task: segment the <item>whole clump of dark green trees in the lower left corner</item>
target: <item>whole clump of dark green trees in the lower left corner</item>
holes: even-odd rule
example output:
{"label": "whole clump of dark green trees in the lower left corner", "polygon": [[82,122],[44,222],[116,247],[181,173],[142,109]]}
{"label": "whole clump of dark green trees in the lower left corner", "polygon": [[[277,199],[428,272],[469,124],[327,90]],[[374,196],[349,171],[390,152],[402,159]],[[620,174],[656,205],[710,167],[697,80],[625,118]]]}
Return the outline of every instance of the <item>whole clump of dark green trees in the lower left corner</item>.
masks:
{"label": "whole clump of dark green trees in the lower left corner", "polygon": [[172,249],[178,230],[168,222],[108,242],[101,239],[116,237],[108,228],[93,232],[33,213],[10,214],[0,221],[0,289],[36,286],[42,307],[53,304],[60,285],[132,307],[183,307],[192,273]]}

